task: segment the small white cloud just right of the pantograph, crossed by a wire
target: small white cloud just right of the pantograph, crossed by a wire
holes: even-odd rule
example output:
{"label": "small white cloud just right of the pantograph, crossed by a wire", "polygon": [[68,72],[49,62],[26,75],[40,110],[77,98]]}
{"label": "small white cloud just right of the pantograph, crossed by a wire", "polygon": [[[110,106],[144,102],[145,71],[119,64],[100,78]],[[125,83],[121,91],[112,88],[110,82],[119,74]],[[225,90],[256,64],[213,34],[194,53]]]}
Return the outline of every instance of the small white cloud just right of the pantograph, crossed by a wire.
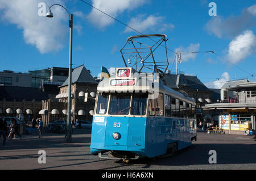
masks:
{"label": "small white cloud just right of the pantograph, crossed by a wire", "polygon": [[[187,48],[184,48],[183,46],[180,46],[179,48],[176,48],[178,52],[181,52],[181,61],[188,61],[188,60],[195,60],[196,53],[186,53],[186,52],[197,52],[200,48],[200,44],[190,44]],[[184,53],[182,53],[184,52]]]}

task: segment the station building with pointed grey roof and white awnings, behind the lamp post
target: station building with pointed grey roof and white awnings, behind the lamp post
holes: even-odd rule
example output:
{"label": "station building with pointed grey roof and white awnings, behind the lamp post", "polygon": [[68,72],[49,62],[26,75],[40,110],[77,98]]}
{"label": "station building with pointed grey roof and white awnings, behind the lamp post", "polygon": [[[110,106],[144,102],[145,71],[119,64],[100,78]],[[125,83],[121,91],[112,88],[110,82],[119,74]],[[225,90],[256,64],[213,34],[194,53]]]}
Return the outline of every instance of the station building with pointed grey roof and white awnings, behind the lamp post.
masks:
{"label": "station building with pointed grey roof and white awnings, behind the lamp post", "polygon": [[[72,71],[72,104],[71,120],[89,120],[92,121],[90,111],[94,110],[95,100],[89,98],[84,102],[85,92],[96,92],[98,82],[90,75],[89,71],[81,65]],[[42,118],[44,123],[48,124],[56,119],[67,119],[68,106],[68,78],[59,86],[59,94],[55,99],[47,99],[42,102]],[[48,113],[48,114],[47,114]]]}

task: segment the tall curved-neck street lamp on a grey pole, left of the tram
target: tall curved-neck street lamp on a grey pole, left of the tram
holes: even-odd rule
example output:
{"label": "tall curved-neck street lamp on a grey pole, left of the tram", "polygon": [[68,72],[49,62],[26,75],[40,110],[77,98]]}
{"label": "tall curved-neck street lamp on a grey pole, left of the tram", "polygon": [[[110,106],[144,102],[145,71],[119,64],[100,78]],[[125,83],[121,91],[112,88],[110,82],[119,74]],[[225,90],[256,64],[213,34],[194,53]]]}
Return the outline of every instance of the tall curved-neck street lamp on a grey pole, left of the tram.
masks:
{"label": "tall curved-neck street lamp on a grey pole, left of the tram", "polygon": [[[54,4],[52,6],[61,6],[59,4]],[[46,17],[52,18],[53,14],[51,12],[51,7],[49,7],[49,11],[46,14]],[[63,7],[67,12],[68,10]],[[66,141],[71,142],[71,80],[72,80],[72,34],[73,34],[73,14],[69,14],[69,69],[68,69],[68,117],[67,117],[67,136]]]}

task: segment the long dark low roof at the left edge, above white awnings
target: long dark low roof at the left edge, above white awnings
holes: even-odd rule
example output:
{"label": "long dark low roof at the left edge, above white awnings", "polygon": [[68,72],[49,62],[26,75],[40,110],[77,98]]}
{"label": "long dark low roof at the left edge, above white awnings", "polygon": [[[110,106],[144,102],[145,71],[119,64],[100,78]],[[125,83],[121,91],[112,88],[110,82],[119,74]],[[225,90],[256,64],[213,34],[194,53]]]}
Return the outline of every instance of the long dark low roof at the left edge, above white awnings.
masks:
{"label": "long dark low roof at the left edge, above white awnings", "polygon": [[0,86],[0,99],[6,100],[46,100],[45,92],[34,87]]}

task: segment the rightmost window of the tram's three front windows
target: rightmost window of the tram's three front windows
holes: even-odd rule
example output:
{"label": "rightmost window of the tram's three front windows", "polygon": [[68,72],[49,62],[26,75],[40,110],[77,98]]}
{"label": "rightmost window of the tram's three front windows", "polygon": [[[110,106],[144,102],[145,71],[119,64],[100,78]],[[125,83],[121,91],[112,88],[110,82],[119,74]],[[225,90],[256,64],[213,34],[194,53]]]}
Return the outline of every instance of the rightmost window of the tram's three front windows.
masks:
{"label": "rightmost window of the tram's three front windows", "polygon": [[147,106],[147,94],[133,94],[131,102],[131,115],[145,115]]}

